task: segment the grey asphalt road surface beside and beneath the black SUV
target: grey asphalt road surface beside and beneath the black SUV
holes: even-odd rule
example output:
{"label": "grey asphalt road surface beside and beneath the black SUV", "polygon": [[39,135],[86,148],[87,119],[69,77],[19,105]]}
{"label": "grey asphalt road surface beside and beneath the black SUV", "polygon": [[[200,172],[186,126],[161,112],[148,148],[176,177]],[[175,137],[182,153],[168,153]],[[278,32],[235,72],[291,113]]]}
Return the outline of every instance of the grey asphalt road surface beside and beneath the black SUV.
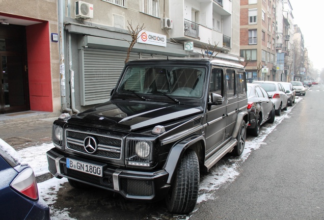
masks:
{"label": "grey asphalt road surface beside and beneath the black SUV", "polygon": [[235,165],[239,175],[213,190],[213,199],[198,203],[188,216],[169,213],[163,201],[126,201],[106,190],[75,189],[68,183],[58,191],[53,208],[68,209],[69,216],[79,220],[324,219],[323,97],[324,85],[301,96],[244,162],[235,164],[231,157],[219,161]]}

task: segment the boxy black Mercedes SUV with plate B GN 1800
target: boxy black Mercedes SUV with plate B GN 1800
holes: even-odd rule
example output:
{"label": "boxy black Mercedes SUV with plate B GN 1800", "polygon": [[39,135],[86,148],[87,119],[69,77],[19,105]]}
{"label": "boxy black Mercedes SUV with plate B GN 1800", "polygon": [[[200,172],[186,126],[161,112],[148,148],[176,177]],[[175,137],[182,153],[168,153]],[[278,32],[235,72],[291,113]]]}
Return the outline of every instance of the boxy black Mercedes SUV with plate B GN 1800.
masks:
{"label": "boxy black Mercedes SUV with plate B GN 1800", "polygon": [[49,171],[74,187],[97,186],[191,212],[200,171],[245,147],[244,67],[218,59],[128,62],[111,100],[53,123]]}

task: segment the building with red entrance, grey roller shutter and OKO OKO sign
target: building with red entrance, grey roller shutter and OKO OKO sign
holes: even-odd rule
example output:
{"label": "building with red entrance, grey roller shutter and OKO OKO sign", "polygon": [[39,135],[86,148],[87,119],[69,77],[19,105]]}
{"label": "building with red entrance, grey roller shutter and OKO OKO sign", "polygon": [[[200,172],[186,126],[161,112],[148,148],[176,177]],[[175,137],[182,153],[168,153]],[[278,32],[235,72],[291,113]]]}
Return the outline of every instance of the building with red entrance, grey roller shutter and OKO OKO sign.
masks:
{"label": "building with red entrance, grey roller shutter and OKO OKO sign", "polygon": [[[239,0],[5,1],[1,19],[9,23],[0,24],[1,34],[14,25],[26,33],[28,63],[20,66],[26,69],[24,95],[30,106],[19,111],[73,114],[109,100],[127,54],[129,60],[216,56],[239,61]],[[138,29],[128,53],[129,31]],[[7,84],[13,100],[14,84]],[[14,103],[8,105],[5,96],[2,92],[1,114]]]}

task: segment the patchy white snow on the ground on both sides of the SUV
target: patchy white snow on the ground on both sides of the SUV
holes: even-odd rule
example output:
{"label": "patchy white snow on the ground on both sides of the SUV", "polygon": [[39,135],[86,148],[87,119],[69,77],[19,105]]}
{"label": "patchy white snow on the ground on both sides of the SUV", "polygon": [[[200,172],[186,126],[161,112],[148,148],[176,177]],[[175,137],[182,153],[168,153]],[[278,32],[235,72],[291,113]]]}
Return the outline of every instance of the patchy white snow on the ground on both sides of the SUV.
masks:
{"label": "patchy white snow on the ground on both sides of the SUV", "polygon": [[[301,97],[296,97],[295,103],[298,103],[302,99],[303,98]],[[205,175],[204,179],[201,180],[201,183],[199,185],[200,193],[197,202],[200,203],[208,199],[213,199],[213,193],[215,190],[220,188],[224,183],[234,181],[235,178],[239,175],[239,172],[237,171],[239,163],[244,162],[253,150],[257,150],[262,144],[264,144],[263,141],[266,138],[267,134],[275,130],[276,126],[280,124],[284,120],[284,118],[289,117],[288,114],[294,106],[295,105],[288,107],[288,110],[282,112],[281,116],[276,116],[275,122],[271,126],[267,128],[261,127],[259,136],[254,137],[252,140],[249,139],[250,141],[246,142],[242,155],[235,159],[231,159],[234,162],[232,166],[226,166],[225,164],[218,167],[217,169],[211,169],[210,173],[208,173],[208,175]],[[52,147],[53,144],[43,144],[40,146],[34,146],[20,150],[18,151],[18,154],[30,164],[35,172],[35,175],[38,176],[48,172],[46,151],[48,151]],[[35,154],[35,152],[37,152],[37,154]],[[69,217],[69,211],[67,209],[56,210],[51,206],[56,202],[57,193],[62,187],[62,184],[65,182],[67,182],[66,178],[51,178],[45,182],[38,183],[39,195],[50,207],[52,220],[74,220],[74,218]]]}

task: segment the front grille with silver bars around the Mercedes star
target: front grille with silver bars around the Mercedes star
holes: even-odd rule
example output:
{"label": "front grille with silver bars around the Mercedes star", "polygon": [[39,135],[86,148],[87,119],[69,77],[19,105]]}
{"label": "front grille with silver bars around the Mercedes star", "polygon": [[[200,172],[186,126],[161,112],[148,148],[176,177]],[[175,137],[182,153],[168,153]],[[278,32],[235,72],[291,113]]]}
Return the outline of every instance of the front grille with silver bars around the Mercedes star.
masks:
{"label": "front grille with silver bars around the Mercedes star", "polygon": [[[97,150],[90,154],[85,149],[85,139],[93,137],[97,143]],[[66,130],[66,147],[80,153],[86,153],[95,157],[120,159],[122,139],[116,137],[103,136],[94,133]]]}

